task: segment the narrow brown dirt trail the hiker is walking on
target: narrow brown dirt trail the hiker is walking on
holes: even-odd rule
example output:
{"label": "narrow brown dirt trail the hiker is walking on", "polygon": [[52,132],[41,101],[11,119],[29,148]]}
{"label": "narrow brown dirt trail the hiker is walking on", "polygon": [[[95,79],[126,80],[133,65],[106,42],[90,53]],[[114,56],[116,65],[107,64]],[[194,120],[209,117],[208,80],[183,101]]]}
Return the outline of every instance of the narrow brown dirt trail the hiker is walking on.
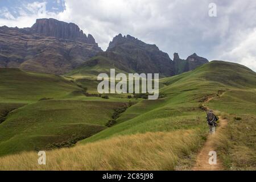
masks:
{"label": "narrow brown dirt trail the hiker is walking on", "polygon": [[[208,100],[205,102],[205,104],[207,102],[209,102],[210,100],[212,100],[213,98],[214,97],[208,98]],[[205,105],[203,105],[203,106],[207,107]],[[207,109],[209,109],[209,108],[207,107]],[[204,143],[203,148],[201,148],[199,154],[197,154],[197,156],[196,156],[196,164],[192,168],[193,171],[219,171],[219,170],[224,169],[222,166],[221,160],[218,158],[218,154],[217,154],[217,164],[212,164],[212,165],[209,164],[210,156],[208,154],[210,151],[216,150],[214,148],[213,140],[218,135],[220,130],[227,125],[227,123],[228,123],[228,121],[226,119],[219,117],[219,123],[218,123],[217,129],[216,129],[216,132],[212,135],[208,135],[207,141]]]}

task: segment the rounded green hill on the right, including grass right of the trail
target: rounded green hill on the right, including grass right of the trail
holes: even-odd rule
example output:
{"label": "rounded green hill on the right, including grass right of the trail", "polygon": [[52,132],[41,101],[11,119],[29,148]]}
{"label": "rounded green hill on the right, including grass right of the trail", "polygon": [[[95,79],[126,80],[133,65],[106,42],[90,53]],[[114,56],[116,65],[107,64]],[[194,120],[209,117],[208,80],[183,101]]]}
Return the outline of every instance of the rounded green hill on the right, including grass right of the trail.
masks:
{"label": "rounded green hill on the right, including grass right of the trail", "polygon": [[[217,99],[209,102],[209,107],[222,111],[221,114],[226,114],[230,118],[227,127],[229,131],[223,132],[223,139],[226,138],[226,140],[220,139],[219,141],[222,142],[216,142],[226,169],[255,169],[256,150],[253,142],[255,140],[253,132],[255,124],[253,120],[256,109],[256,74],[254,72],[242,65],[213,61],[195,71],[163,78],[161,81],[166,86],[160,92],[167,94],[167,97],[162,99],[162,104],[156,104],[155,108],[154,106],[150,108],[152,105],[145,104],[144,106],[148,110],[144,110],[144,113],[142,112],[138,116],[134,114],[134,111],[142,111],[139,110],[141,106],[134,105],[126,113],[123,113],[123,115],[130,116],[128,121],[121,119],[121,116],[120,121],[125,122],[82,140],[80,143],[90,143],[115,135],[193,128],[199,129],[200,132],[197,130],[197,134],[204,136],[205,114],[197,109],[200,105],[198,101],[204,96],[216,96]],[[218,97],[222,92],[225,92],[224,95]],[[141,102],[142,104],[143,102]],[[229,114],[232,116],[230,117]],[[240,114],[244,114],[241,117],[245,119],[237,124],[234,118]],[[134,118],[132,118],[133,116]],[[232,134],[234,131],[237,135]],[[249,137],[247,138],[249,142],[246,137]],[[227,141],[228,147],[224,144]],[[241,154],[243,157],[238,160]]]}

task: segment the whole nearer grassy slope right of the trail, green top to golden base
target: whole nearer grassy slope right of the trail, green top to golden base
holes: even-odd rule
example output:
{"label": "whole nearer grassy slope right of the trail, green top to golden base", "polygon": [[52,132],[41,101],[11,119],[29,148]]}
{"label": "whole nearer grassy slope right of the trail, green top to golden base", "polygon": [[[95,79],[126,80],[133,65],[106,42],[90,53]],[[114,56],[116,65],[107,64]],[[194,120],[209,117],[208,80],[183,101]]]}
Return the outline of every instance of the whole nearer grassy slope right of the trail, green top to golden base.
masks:
{"label": "whole nearer grassy slope right of the trail, green top to golden base", "polygon": [[217,137],[215,145],[224,167],[229,170],[256,170],[256,91],[228,90],[209,107],[220,110],[228,127]]}

